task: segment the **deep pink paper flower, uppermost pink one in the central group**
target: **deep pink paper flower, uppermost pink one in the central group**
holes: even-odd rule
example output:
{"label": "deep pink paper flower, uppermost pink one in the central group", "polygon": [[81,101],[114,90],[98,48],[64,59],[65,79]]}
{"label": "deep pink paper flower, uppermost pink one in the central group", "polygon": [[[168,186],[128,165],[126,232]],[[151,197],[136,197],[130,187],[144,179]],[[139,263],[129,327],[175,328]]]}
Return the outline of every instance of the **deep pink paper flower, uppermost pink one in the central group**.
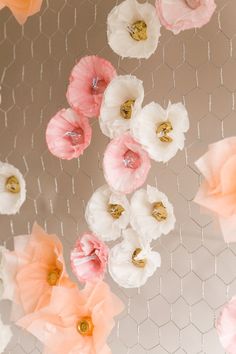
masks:
{"label": "deep pink paper flower, uppermost pink one in the central group", "polygon": [[67,89],[70,106],[87,117],[98,117],[103,93],[115,76],[109,61],[95,55],[82,58],[71,72]]}

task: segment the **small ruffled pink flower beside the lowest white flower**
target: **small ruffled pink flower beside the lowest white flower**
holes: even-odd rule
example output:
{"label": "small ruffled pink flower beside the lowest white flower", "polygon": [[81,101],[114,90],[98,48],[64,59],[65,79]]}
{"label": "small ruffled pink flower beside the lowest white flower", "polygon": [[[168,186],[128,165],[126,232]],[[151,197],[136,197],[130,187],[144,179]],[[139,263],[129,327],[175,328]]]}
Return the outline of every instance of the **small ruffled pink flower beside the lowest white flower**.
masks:
{"label": "small ruffled pink flower beside the lowest white flower", "polygon": [[71,252],[71,267],[81,282],[102,279],[106,271],[109,249],[95,235],[86,233]]}

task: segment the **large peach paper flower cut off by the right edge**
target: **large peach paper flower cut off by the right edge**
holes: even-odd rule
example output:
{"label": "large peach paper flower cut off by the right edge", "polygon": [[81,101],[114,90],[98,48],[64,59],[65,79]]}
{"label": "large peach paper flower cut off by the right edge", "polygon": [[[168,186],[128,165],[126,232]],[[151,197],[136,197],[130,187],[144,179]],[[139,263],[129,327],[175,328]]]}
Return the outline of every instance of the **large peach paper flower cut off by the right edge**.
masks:
{"label": "large peach paper flower cut off by the right edge", "polygon": [[236,137],[209,146],[196,166],[204,175],[195,202],[215,212],[226,242],[236,241]]}

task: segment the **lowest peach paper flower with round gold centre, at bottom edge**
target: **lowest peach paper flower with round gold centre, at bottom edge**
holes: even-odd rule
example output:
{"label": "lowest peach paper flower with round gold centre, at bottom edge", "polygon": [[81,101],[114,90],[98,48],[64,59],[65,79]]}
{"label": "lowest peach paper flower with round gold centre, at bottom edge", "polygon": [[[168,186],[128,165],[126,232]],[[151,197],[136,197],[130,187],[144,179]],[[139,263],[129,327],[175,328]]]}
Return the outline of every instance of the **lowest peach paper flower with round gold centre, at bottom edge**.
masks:
{"label": "lowest peach paper flower with round gold centre, at bottom edge", "polygon": [[54,288],[48,307],[18,321],[54,354],[111,354],[106,340],[121,301],[104,282],[77,288]]}

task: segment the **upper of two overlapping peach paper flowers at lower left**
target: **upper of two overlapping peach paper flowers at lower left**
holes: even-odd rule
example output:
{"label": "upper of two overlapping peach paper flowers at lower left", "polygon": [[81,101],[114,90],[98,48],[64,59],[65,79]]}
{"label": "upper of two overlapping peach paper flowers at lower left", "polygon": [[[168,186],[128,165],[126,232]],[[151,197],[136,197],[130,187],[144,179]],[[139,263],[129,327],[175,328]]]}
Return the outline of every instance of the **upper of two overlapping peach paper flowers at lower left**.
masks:
{"label": "upper of two overlapping peach paper flowers at lower left", "polygon": [[47,306],[54,287],[75,286],[66,273],[62,244],[56,235],[48,235],[34,224],[31,235],[15,237],[14,246],[12,254],[18,264],[14,301],[25,314]]}

